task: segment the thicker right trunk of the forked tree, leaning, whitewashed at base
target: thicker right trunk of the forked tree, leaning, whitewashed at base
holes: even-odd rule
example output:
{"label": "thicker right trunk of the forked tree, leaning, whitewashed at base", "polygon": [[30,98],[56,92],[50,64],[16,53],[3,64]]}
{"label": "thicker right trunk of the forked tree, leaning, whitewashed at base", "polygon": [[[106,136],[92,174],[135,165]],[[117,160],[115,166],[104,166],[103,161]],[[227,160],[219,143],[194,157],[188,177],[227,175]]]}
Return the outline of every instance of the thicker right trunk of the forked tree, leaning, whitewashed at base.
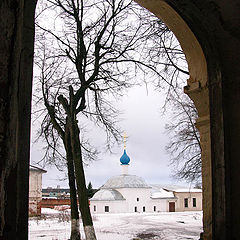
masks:
{"label": "thicker right trunk of the forked tree, leaning, whitewashed at base", "polygon": [[83,159],[81,152],[81,143],[79,139],[79,128],[76,119],[71,119],[71,144],[73,150],[73,159],[75,167],[75,176],[77,182],[77,194],[79,200],[79,209],[82,216],[84,233],[86,240],[96,240],[96,234],[93,227],[92,216],[90,213],[85,174],[83,169]]}

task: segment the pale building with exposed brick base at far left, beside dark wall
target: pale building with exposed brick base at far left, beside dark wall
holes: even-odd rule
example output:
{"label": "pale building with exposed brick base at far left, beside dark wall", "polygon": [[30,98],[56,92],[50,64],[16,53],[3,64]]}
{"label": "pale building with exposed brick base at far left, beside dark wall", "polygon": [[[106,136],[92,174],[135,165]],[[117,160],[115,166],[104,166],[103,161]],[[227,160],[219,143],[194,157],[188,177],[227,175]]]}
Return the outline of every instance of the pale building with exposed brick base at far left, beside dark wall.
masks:
{"label": "pale building with exposed brick base at far left, beside dark wall", "polygon": [[30,165],[29,169],[29,216],[41,215],[42,174],[47,171]]}

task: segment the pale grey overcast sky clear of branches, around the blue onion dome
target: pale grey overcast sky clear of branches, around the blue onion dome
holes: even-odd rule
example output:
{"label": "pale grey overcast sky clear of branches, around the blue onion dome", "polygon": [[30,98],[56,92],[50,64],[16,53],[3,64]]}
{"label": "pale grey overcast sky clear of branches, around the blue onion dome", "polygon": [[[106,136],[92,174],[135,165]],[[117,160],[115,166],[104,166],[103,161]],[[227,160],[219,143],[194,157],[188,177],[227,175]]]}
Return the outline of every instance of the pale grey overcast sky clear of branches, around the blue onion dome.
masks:
{"label": "pale grey overcast sky clear of branches, around the blue onion dome", "polygon": [[[117,106],[124,112],[120,124],[128,136],[127,154],[131,159],[129,174],[141,176],[147,183],[173,184],[176,181],[171,177],[169,155],[165,151],[169,139],[164,129],[164,125],[170,121],[170,113],[164,116],[161,114],[163,101],[163,94],[151,88],[148,88],[147,94],[144,87],[137,86],[130,89],[128,95],[124,96]],[[103,136],[99,131],[93,129],[90,134],[95,144],[103,144]],[[104,184],[108,178],[121,174],[120,157],[123,153],[123,143],[114,148],[113,154],[106,153],[103,147],[99,150],[102,150],[99,159],[85,167],[87,182],[91,181],[95,188]],[[31,162],[38,161],[42,155],[41,145],[32,144]],[[43,174],[44,188],[57,185],[68,187],[67,180],[62,180],[63,173],[55,167],[45,169],[47,173]]]}

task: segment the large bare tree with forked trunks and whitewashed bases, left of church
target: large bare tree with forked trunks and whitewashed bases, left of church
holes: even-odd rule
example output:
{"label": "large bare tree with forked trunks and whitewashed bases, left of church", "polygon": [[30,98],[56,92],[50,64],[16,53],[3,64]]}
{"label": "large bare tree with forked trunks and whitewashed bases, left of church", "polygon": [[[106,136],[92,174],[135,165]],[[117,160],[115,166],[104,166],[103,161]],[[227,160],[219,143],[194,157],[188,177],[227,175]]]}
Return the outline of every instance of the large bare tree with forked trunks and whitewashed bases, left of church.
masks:
{"label": "large bare tree with forked trunks and whitewashed bases, left of church", "polygon": [[[76,196],[86,239],[96,239],[83,170],[84,152],[94,158],[96,151],[82,140],[83,121],[90,119],[105,130],[108,147],[119,139],[118,111],[109,95],[121,96],[139,72],[143,79],[149,69],[159,77],[155,63],[146,64],[136,51],[149,30],[135,21],[142,10],[132,1],[49,0],[42,6],[35,58],[42,97],[35,96],[45,106],[36,110],[43,119],[40,136],[47,143],[45,159],[58,167],[57,160],[63,160],[68,168],[71,239],[80,239]],[[49,11],[54,18],[44,21]]]}

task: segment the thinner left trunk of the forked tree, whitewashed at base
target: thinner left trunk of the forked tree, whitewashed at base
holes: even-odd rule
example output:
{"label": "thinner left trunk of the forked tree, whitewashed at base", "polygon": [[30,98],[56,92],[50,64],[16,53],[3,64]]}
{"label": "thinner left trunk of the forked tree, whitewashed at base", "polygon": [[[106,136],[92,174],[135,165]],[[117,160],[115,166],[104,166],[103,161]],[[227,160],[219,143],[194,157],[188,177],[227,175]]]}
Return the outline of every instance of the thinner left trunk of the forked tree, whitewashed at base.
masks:
{"label": "thinner left trunk of the forked tree, whitewashed at base", "polygon": [[64,146],[67,153],[67,167],[68,167],[68,181],[70,187],[70,200],[71,200],[71,240],[80,240],[81,235],[79,231],[79,212],[77,204],[77,192],[75,184],[75,174],[72,156],[72,147],[69,130],[65,131]]}

